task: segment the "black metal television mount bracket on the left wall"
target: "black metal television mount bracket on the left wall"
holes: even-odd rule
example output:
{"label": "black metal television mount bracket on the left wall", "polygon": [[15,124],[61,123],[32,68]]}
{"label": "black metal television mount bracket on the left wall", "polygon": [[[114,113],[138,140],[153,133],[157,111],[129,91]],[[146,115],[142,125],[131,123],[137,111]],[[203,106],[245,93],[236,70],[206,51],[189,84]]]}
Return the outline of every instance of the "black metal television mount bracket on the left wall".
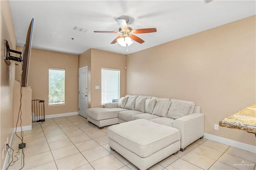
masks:
{"label": "black metal television mount bracket on the left wall", "polygon": [[[20,57],[11,56],[10,53],[20,54]],[[4,40],[4,60],[8,65],[11,65],[10,60],[18,61],[18,62],[22,61],[22,52],[10,49],[10,46],[7,40]]]}

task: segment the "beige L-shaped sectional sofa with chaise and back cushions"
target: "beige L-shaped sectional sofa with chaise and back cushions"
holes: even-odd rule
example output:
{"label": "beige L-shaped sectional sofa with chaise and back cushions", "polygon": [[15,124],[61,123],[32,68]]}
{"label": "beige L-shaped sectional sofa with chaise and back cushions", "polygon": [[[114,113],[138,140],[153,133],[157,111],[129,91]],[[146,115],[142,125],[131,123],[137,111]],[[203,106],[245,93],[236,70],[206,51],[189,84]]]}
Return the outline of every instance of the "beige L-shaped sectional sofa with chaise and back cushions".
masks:
{"label": "beige L-shaped sectional sofa with chaise and back cushions", "polygon": [[88,121],[99,128],[146,119],[180,131],[180,150],[204,136],[204,114],[194,102],[161,99],[140,95],[126,95],[119,102],[106,103],[105,108],[86,111]]}

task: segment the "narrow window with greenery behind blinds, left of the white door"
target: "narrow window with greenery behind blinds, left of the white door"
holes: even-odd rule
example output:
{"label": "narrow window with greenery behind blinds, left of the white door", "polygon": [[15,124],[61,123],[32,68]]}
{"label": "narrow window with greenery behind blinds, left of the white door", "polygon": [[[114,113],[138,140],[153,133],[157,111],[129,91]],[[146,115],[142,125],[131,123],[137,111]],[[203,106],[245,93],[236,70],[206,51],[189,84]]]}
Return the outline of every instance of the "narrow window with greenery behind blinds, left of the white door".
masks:
{"label": "narrow window with greenery behind blinds, left of the white door", "polygon": [[65,69],[49,69],[49,105],[65,103]]}

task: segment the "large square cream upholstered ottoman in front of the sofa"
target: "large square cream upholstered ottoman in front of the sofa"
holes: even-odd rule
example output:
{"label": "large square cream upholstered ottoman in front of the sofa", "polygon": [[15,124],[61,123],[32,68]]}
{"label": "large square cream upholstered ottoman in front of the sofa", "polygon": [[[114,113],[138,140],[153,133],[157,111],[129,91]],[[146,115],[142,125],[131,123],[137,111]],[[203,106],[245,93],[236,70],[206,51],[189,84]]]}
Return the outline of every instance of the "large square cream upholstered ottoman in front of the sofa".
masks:
{"label": "large square cream upholstered ottoman in front of the sofa", "polygon": [[180,150],[180,131],[145,119],[108,127],[108,144],[140,170]]}

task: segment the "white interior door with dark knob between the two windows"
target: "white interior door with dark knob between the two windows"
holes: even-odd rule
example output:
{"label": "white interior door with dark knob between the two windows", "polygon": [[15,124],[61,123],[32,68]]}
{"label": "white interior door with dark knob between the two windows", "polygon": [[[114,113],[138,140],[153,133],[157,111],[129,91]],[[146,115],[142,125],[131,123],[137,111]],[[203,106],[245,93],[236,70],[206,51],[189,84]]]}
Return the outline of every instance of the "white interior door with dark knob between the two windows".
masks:
{"label": "white interior door with dark knob between the two windows", "polygon": [[79,69],[79,108],[78,113],[87,118],[86,110],[88,109],[88,68]]}

